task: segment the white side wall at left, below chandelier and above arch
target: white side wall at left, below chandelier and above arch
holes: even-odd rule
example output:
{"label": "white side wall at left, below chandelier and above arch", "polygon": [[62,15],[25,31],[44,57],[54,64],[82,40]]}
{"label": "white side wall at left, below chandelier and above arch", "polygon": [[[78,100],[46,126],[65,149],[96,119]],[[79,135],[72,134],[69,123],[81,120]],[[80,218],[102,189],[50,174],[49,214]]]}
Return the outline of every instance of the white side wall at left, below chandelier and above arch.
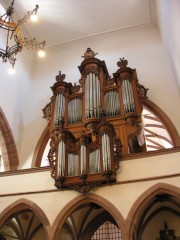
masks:
{"label": "white side wall at left, below chandelier and above arch", "polygon": [[33,55],[31,52],[28,52],[27,55],[26,51],[23,50],[17,58],[13,75],[9,75],[7,72],[10,67],[9,63],[0,63],[0,106],[10,125],[18,155],[20,155],[25,116],[28,111],[27,102],[31,88],[30,75]]}

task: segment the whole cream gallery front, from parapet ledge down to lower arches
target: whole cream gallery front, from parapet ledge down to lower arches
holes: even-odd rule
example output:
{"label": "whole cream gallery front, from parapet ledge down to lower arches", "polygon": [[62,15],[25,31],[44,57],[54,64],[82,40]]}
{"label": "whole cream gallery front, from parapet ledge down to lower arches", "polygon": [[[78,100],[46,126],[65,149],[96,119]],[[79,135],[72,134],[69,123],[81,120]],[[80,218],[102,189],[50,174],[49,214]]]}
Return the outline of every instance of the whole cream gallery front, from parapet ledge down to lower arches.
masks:
{"label": "whole cream gallery front, from parapet ledge down to lower arches", "polygon": [[[171,162],[171,165],[168,162]],[[151,186],[157,183],[167,183],[180,187],[179,153],[127,160],[121,164],[122,172],[118,173],[117,184],[95,188],[91,193],[111,202],[124,219],[127,218],[135,201]],[[6,173],[4,176],[3,173],[1,174],[0,211],[15,201],[25,198],[36,203],[52,224],[66,205],[81,195],[75,191],[56,190],[50,172],[47,170],[20,173],[21,171],[11,176],[5,176]],[[86,196],[88,198],[88,194]]]}

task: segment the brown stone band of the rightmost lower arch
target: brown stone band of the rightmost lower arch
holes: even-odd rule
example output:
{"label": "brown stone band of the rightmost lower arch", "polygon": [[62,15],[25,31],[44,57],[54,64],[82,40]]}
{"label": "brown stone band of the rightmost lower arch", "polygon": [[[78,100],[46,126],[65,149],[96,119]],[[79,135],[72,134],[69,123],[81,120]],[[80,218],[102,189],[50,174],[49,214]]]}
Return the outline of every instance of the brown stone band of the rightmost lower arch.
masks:
{"label": "brown stone band of the rightmost lower arch", "polygon": [[157,183],[147,189],[133,204],[126,219],[128,229],[128,239],[133,239],[133,229],[137,226],[138,220],[145,210],[146,206],[156,196],[161,194],[169,194],[180,201],[180,188],[167,183]]}

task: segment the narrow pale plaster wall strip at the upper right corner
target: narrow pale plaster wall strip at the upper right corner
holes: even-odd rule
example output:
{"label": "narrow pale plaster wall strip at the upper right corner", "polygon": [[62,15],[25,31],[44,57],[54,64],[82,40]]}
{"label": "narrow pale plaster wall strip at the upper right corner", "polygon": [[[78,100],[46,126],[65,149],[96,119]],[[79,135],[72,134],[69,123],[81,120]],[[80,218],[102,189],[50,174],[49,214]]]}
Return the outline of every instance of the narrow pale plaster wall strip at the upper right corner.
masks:
{"label": "narrow pale plaster wall strip at the upper right corner", "polygon": [[180,32],[178,0],[156,0],[157,22],[180,93]]}

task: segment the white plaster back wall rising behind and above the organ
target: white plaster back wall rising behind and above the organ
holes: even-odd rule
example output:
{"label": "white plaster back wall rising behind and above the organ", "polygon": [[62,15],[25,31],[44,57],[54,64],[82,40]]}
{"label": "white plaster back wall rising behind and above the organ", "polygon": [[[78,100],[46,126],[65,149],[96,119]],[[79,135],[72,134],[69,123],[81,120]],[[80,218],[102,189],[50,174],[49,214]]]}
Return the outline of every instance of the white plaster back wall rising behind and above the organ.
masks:
{"label": "white plaster back wall rising behind and above the organ", "polygon": [[46,126],[46,121],[42,119],[42,108],[52,96],[50,87],[55,82],[55,76],[62,71],[66,74],[67,82],[78,82],[80,73],[77,66],[81,64],[81,56],[87,47],[99,53],[97,58],[105,60],[111,76],[118,69],[116,63],[119,58],[125,57],[129,66],[136,68],[139,82],[149,88],[149,98],[165,111],[180,131],[180,113],[172,108],[174,102],[177,106],[180,105],[178,90],[156,28],[142,28],[123,34],[68,43],[48,48],[46,59],[36,59],[34,62],[20,168],[31,167],[33,151]]}

